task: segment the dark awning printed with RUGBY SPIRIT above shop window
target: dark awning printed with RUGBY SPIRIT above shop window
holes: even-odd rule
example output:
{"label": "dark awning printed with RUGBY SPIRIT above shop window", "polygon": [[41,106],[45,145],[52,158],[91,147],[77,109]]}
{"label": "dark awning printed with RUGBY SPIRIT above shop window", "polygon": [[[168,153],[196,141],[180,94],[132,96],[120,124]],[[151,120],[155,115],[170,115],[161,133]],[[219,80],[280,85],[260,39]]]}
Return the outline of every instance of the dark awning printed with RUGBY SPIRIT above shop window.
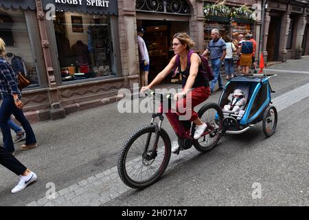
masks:
{"label": "dark awning printed with RUGBY SPIRIT above shop window", "polygon": [[86,14],[118,14],[117,0],[42,0],[43,7],[53,3],[56,10],[65,12],[80,12]]}

